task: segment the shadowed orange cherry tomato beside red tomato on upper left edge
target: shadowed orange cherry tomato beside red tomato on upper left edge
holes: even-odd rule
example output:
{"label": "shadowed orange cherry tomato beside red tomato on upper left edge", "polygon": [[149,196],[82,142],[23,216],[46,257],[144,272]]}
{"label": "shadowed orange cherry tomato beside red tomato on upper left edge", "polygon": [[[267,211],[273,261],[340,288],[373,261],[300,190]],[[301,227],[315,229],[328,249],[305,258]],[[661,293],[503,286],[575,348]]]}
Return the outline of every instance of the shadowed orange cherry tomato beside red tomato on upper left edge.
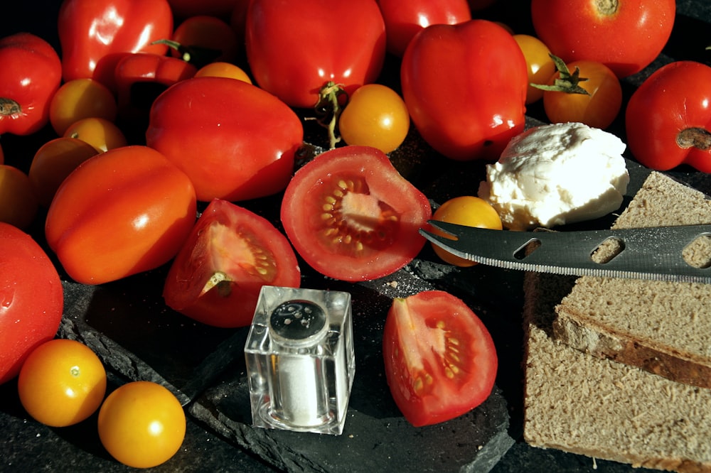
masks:
{"label": "shadowed orange cherry tomato beside red tomato on upper left edge", "polygon": [[114,121],[116,98],[97,80],[84,78],[65,82],[55,92],[49,106],[49,121],[59,136],[75,121],[96,116]]}

